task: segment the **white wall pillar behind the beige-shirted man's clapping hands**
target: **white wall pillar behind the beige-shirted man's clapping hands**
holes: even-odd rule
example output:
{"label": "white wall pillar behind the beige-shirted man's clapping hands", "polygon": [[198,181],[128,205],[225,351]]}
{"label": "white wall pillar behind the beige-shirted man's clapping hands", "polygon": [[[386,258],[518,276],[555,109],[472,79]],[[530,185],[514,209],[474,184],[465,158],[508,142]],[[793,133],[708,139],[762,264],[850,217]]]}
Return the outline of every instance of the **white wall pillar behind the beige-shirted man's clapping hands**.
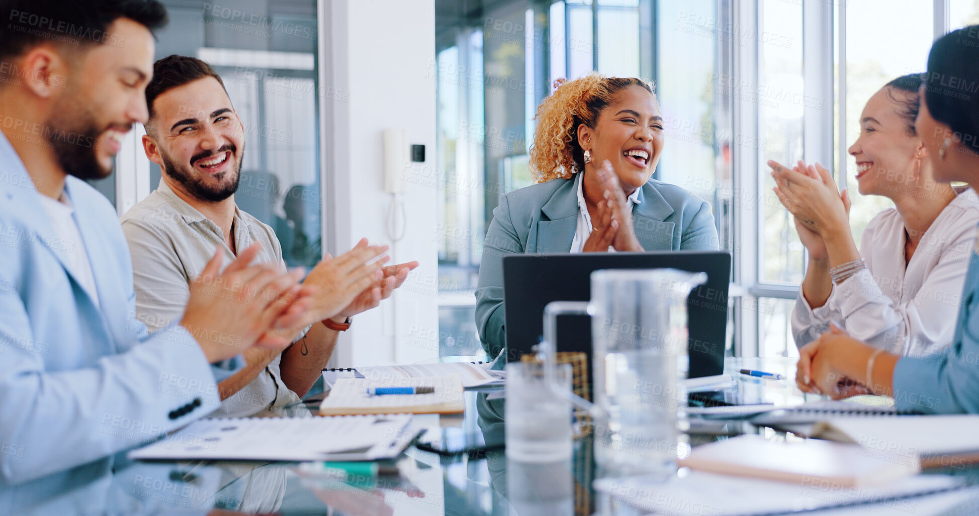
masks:
{"label": "white wall pillar behind the beige-shirted man's clapping hands", "polygon": [[331,103],[323,134],[324,155],[331,155],[324,156],[331,251],[345,252],[367,237],[391,245],[393,263],[421,262],[395,296],[354,318],[333,363],[348,367],[435,358],[439,191],[407,185],[401,196],[407,227],[404,238],[394,243],[387,231],[394,196],[384,192],[383,176],[386,128],[406,129],[408,143],[425,145],[423,165],[435,162],[435,81],[427,76],[435,58],[434,0],[321,0],[320,9],[329,24],[320,46],[321,54],[329,53],[324,73],[342,91],[338,97],[349,94],[346,102],[321,96]]}

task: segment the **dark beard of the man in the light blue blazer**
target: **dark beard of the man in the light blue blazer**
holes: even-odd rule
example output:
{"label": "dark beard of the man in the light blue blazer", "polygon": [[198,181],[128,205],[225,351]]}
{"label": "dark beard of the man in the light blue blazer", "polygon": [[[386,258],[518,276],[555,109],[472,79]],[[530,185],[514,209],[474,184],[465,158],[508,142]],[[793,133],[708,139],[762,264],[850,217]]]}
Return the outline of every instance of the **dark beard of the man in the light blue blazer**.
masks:
{"label": "dark beard of the man in the light blue blazer", "polygon": [[58,157],[58,164],[66,173],[83,180],[104,179],[113,173],[113,167],[110,165],[106,168],[100,164],[95,150],[99,136],[109,126],[100,129],[100,124],[91,111],[79,111],[79,106],[90,105],[80,100],[73,95],[66,95],[58,101],[54,115],[45,121],[49,131],[48,143]]}

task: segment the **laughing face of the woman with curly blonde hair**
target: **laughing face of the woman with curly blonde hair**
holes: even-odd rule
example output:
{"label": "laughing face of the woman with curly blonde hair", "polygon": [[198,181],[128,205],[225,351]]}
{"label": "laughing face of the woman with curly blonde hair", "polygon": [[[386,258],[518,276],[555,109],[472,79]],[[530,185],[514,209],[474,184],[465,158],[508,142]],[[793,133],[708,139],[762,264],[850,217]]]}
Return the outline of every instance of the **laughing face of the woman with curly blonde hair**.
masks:
{"label": "laughing face of the woman with curly blonde hair", "polygon": [[608,160],[626,191],[640,188],[656,169],[663,151],[663,117],[656,97],[641,86],[627,86],[602,110],[592,129],[582,124],[579,142],[591,152],[585,171]]}

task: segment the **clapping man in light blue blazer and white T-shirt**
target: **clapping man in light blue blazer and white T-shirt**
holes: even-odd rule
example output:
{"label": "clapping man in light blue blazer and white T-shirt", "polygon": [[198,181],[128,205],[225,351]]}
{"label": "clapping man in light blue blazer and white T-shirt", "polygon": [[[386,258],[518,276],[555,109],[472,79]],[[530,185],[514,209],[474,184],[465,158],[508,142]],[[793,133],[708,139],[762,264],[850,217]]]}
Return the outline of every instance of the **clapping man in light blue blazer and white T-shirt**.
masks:
{"label": "clapping man in light blue blazer and white T-shirt", "polygon": [[[4,0],[0,16],[24,28],[0,35],[4,70],[19,70],[0,83],[0,114],[16,120],[0,124],[0,514],[11,514],[41,486],[100,477],[110,455],[217,407],[210,362],[259,338],[288,344],[266,332],[295,324],[309,293],[295,274],[248,266],[257,249],[220,275],[216,255],[181,320],[148,335],[116,211],[81,179],[108,176],[122,135],[146,119],[163,6]],[[59,23],[37,25],[45,17],[82,35],[66,42]]]}

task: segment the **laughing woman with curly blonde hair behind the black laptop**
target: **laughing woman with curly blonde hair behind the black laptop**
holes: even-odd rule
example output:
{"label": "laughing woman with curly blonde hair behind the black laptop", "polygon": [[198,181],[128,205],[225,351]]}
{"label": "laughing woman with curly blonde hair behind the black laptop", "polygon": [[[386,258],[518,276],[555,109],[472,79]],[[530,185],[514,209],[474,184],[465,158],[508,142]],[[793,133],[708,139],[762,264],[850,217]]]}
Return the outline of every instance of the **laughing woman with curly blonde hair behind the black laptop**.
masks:
{"label": "laughing woman with curly blonde hair behind the black laptop", "polygon": [[663,117],[648,82],[592,72],[555,85],[537,108],[537,184],[500,196],[487,230],[476,322],[490,356],[505,346],[503,255],[718,247],[711,205],[651,179]]}

